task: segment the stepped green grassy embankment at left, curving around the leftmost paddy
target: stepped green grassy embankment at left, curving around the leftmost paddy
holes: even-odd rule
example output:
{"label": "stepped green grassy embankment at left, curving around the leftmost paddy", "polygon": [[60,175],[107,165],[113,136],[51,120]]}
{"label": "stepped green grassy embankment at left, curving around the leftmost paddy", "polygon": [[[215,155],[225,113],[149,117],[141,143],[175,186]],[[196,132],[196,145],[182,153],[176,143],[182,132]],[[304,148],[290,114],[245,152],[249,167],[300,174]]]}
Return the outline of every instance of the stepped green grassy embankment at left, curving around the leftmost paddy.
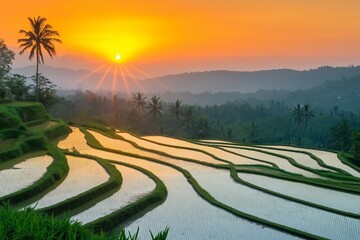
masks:
{"label": "stepped green grassy embankment at left, curving around the leftmost paddy", "polygon": [[[53,162],[47,172],[27,188],[0,198],[0,203],[8,202],[17,207],[40,199],[58,186],[67,176],[69,166],[65,155],[53,144],[52,138],[70,132],[70,128],[61,121],[59,124],[43,129],[42,132],[30,132],[27,125],[50,120],[40,103],[0,104],[0,167],[11,166],[25,160],[26,154],[49,154]],[[12,144],[9,144],[9,141]],[[38,153],[36,153],[38,152]]]}

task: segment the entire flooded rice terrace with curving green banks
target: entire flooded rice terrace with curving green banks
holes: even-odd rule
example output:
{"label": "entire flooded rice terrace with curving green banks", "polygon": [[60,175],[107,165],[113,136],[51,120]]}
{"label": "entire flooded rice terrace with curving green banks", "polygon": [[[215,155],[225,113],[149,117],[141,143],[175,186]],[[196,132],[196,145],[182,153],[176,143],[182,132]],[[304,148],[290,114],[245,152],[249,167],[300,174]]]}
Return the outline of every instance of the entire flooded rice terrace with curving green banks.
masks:
{"label": "entire flooded rice terrace with curving green banks", "polygon": [[360,172],[346,154],[67,125],[39,103],[0,109],[0,200],[20,210],[142,239],[166,228],[170,239],[360,233]]}

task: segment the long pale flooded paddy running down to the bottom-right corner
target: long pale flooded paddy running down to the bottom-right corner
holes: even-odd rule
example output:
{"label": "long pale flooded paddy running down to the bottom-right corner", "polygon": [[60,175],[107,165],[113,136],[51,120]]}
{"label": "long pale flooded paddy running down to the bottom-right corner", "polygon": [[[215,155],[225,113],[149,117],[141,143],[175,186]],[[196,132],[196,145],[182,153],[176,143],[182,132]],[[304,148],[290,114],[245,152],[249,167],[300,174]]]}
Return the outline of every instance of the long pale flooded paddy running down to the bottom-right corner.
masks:
{"label": "long pale flooded paddy running down to the bottom-right corner", "polygon": [[360,234],[358,219],[310,208],[235,183],[228,171],[186,162],[177,165],[188,170],[215,199],[246,213],[331,239],[355,239]]}

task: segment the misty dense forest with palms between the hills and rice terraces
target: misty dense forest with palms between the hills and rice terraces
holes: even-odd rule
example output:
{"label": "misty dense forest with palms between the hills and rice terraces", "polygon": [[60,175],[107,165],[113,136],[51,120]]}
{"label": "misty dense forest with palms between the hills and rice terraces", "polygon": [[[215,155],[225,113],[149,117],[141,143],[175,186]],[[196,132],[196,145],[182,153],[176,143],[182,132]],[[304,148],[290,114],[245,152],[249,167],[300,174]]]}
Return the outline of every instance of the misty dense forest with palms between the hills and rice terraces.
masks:
{"label": "misty dense forest with palms between the hills and rice terraces", "polygon": [[[224,139],[241,143],[296,144],[352,151],[358,156],[360,112],[274,100],[237,100],[221,105],[164,102],[142,93],[119,97],[76,91],[48,105],[53,116],[98,122],[146,134]],[[329,103],[330,104],[330,103]]]}

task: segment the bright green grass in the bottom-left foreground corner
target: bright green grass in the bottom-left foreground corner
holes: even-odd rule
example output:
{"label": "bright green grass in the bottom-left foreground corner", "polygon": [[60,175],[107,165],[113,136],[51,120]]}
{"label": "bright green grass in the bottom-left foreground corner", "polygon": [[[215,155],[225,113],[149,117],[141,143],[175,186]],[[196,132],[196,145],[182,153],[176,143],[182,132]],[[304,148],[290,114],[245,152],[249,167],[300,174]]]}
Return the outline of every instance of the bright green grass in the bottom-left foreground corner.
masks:
{"label": "bright green grass in the bottom-left foreground corner", "polygon": [[[153,235],[151,239],[166,239],[168,229]],[[137,232],[119,235],[95,234],[79,222],[68,218],[46,216],[27,208],[17,211],[9,206],[0,207],[0,239],[86,239],[86,240],[136,240]]]}

